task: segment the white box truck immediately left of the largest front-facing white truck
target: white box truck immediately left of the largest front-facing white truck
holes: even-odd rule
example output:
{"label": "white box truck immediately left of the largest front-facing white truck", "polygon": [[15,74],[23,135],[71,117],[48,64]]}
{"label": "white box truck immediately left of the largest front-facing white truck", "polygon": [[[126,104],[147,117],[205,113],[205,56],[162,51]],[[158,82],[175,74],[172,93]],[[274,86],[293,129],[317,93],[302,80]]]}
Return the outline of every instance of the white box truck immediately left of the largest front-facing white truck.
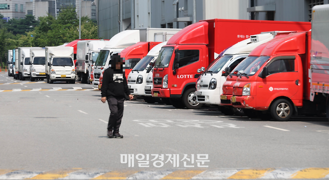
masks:
{"label": "white box truck immediately left of the largest front-facing white truck", "polygon": [[29,72],[30,81],[45,79],[45,49],[29,50]]}

